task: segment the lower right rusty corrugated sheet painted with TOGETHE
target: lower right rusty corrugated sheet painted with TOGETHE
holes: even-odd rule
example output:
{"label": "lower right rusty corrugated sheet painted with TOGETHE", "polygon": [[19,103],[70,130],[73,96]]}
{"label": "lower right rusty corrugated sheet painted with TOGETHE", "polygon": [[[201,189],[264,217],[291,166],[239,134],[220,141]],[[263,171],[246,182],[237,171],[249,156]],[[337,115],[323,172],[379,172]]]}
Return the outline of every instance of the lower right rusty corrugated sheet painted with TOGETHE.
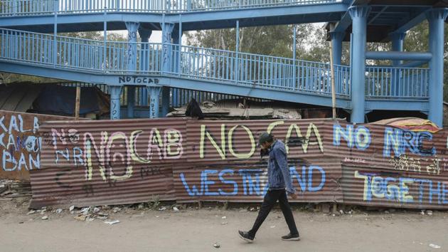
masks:
{"label": "lower right rusty corrugated sheet painted with TOGETHE", "polygon": [[346,204],[448,209],[447,171],[440,174],[343,167]]}

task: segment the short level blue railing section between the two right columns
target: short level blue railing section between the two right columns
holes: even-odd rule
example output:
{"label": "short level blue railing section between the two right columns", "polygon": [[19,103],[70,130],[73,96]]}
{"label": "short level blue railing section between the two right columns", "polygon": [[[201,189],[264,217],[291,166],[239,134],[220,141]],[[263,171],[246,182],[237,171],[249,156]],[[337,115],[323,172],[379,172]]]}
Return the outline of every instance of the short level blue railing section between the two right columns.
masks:
{"label": "short level blue railing section between the two right columns", "polygon": [[370,98],[428,98],[428,68],[366,67]]}

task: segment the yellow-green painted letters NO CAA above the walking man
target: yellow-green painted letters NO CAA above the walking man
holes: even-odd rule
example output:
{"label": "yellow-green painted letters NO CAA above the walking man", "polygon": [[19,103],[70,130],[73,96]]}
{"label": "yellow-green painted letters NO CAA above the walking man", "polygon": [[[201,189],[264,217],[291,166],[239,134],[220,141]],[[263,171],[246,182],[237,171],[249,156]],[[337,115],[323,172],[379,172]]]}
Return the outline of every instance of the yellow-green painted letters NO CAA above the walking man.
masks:
{"label": "yellow-green painted letters NO CAA above the walking man", "polygon": [[[277,125],[282,125],[282,124],[284,124],[284,121],[272,122],[267,127],[267,132],[272,132],[272,130],[274,130],[274,127],[276,127]],[[235,144],[233,142],[233,135],[234,135],[235,131],[238,129],[238,127],[240,127],[242,130],[245,131],[245,134],[247,135],[247,141],[250,142],[250,150],[245,153],[235,152],[235,147],[234,147]],[[205,150],[204,145],[205,145],[206,139],[208,139],[210,141],[210,143],[213,145],[213,147],[216,149],[216,151],[218,151],[220,158],[223,160],[227,158],[227,153],[226,153],[227,148],[228,148],[228,151],[230,152],[230,154],[232,154],[233,157],[236,157],[238,159],[249,159],[250,157],[252,157],[252,155],[255,152],[255,147],[256,147],[255,138],[254,138],[254,135],[252,134],[252,130],[250,130],[250,128],[246,127],[245,125],[235,125],[235,126],[231,127],[230,130],[226,134],[225,128],[226,128],[225,124],[221,125],[220,145],[218,145],[218,142],[215,140],[215,138],[210,134],[210,132],[207,131],[206,125],[201,125],[201,142],[199,145],[200,157],[204,158],[204,150]],[[302,138],[302,132],[301,132],[299,126],[294,123],[292,125],[289,125],[287,135],[284,138],[287,152],[289,152],[288,142],[289,142],[290,138],[293,138],[292,137],[293,132],[295,132],[295,135],[297,137]],[[314,136],[312,136],[312,135],[314,135]],[[324,145],[322,143],[321,135],[319,134],[319,130],[317,129],[316,125],[314,125],[313,123],[309,124],[308,129],[306,130],[305,138],[307,141],[305,141],[301,144],[302,150],[304,153],[308,152],[309,145],[318,145],[319,150],[321,152],[324,152]],[[228,142],[228,147],[226,147],[226,140]],[[239,139],[238,143],[241,144],[242,140]]]}

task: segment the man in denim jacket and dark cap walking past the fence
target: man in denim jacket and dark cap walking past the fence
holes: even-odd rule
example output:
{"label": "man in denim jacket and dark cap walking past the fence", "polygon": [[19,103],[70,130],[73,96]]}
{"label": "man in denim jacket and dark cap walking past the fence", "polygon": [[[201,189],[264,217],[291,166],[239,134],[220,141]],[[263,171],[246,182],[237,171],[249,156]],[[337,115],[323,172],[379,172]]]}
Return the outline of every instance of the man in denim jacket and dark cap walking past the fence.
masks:
{"label": "man in denim jacket and dark cap walking past the fence", "polygon": [[292,187],[292,179],[289,174],[287,152],[284,143],[280,140],[274,141],[272,135],[264,132],[260,135],[258,145],[260,145],[262,153],[269,154],[269,161],[267,163],[267,183],[269,189],[265,195],[254,226],[247,232],[238,231],[240,238],[248,243],[252,243],[255,238],[255,233],[260,229],[261,224],[265,221],[267,215],[278,200],[289,228],[289,233],[286,236],[282,236],[282,240],[299,241],[299,231],[297,231],[294,216],[292,215],[287,199],[287,193],[292,196],[292,199],[297,199],[297,194],[294,187]]}

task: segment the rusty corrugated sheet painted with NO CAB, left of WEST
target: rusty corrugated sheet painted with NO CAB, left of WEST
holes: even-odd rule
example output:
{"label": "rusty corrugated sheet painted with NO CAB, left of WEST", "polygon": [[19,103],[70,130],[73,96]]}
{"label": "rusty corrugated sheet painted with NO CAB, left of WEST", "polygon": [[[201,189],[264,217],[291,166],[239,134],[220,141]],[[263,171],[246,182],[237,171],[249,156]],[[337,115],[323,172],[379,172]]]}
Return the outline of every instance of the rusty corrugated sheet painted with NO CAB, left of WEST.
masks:
{"label": "rusty corrugated sheet painted with NO CAB, left of WEST", "polygon": [[42,171],[31,174],[31,206],[88,206],[175,199],[186,120],[49,122]]}

